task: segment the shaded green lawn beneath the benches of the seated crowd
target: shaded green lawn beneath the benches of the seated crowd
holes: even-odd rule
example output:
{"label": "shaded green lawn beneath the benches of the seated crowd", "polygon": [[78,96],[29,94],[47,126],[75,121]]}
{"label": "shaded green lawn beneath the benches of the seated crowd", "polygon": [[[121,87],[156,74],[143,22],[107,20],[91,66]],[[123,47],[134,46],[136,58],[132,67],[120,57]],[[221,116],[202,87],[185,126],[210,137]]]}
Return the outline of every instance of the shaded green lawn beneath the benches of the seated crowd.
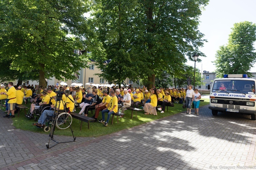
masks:
{"label": "shaded green lawn beneath the benches of the seated crowd", "polygon": [[[204,98],[202,98],[204,99]],[[209,98],[204,99],[204,102],[200,102],[200,106],[208,105],[209,104]],[[30,104],[26,105],[27,107],[30,107]],[[1,106],[1,109],[4,111],[5,108]],[[185,109],[182,108],[182,104],[174,104],[174,107],[167,107],[165,110],[165,113],[160,113],[157,111],[157,115],[145,115],[144,111],[137,111],[137,118],[135,111],[133,112],[133,118],[131,119],[131,110],[126,110],[124,118],[119,118],[119,124],[117,123],[116,116],[114,117],[114,123],[111,125],[112,116],[109,122],[109,125],[106,127],[102,123],[99,122],[92,122],[90,123],[90,129],[88,129],[88,125],[86,122],[83,122],[82,125],[82,131],[80,131],[80,125],[81,121],[77,119],[72,120],[71,127],[74,132],[74,136],[76,137],[99,137],[106,134],[112,134],[114,132],[118,132],[123,129],[128,129],[134,126],[138,126],[147,122],[151,122],[157,119],[161,119],[176,113],[180,113],[182,111],[185,111]],[[199,108],[200,110],[200,108]],[[28,109],[26,109],[26,112]],[[93,110],[94,112],[95,110]],[[76,111],[77,113],[79,110]],[[22,130],[29,130],[31,132],[36,133],[42,133],[42,134],[49,134],[49,132],[44,132],[43,129],[37,128],[32,125],[32,123],[35,123],[33,119],[26,118],[24,115],[24,110],[20,111],[20,116],[18,117],[17,114],[15,114],[16,117],[13,118],[13,125]],[[88,114],[89,117],[92,116],[91,112]],[[105,119],[107,118],[107,114],[105,114]],[[101,112],[99,114],[98,120],[101,119]],[[60,130],[58,128],[55,128],[54,135],[61,135],[61,136],[72,136],[70,128]]]}

